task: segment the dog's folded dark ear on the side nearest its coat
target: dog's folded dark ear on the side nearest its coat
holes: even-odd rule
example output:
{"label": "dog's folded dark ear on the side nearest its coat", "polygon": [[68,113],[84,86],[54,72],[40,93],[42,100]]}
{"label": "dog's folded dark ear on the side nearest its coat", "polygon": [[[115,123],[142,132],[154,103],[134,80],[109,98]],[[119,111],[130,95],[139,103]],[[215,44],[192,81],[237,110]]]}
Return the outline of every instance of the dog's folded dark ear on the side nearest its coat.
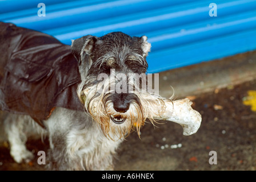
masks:
{"label": "dog's folded dark ear on the side nearest its coat", "polygon": [[82,38],[72,40],[71,51],[78,61],[78,65],[81,65],[82,61],[89,61],[89,66],[92,64],[91,59],[86,60],[86,57],[93,52],[95,43],[97,42],[97,37],[92,35],[86,35]]}

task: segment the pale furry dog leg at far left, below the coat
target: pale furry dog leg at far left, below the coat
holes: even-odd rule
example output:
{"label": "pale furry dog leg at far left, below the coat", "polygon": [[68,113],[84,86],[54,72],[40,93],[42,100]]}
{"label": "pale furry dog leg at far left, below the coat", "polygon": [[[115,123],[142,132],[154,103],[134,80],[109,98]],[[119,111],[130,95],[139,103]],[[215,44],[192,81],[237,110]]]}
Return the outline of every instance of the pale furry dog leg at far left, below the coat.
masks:
{"label": "pale furry dog leg at far left, below the coat", "polygon": [[10,154],[17,163],[29,162],[34,158],[32,152],[26,148],[27,137],[23,132],[26,117],[23,115],[9,114],[5,121],[5,131],[10,144]]}

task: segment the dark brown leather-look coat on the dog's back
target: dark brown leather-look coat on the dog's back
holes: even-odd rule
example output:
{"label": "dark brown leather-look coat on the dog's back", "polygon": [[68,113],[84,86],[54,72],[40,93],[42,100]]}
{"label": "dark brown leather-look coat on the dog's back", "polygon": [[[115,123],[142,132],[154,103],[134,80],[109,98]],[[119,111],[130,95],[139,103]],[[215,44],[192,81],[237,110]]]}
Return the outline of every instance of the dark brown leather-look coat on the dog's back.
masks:
{"label": "dark brown leather-look coat on the dog's back", "polygon": [[42,125],[55,107],[83,111],[70,46],[42,32],[0,22],[0,110]]}

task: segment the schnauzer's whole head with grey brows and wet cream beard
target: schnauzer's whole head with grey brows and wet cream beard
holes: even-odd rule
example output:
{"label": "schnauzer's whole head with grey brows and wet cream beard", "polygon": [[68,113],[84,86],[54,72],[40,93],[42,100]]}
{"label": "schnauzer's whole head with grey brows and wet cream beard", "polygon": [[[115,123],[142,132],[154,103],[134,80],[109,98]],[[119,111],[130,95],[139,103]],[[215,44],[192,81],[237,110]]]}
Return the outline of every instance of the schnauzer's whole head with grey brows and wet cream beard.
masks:
{"label": "schnauzer's whole head with grey brows and wet cream beard", "polygon": [[141,90],[150,47],[146,36],[131,37],[122,32],[100,38],[87,35],[72,43],[82,79],[78,97],[112,139],[134,128],[139,132],[145,122]]}

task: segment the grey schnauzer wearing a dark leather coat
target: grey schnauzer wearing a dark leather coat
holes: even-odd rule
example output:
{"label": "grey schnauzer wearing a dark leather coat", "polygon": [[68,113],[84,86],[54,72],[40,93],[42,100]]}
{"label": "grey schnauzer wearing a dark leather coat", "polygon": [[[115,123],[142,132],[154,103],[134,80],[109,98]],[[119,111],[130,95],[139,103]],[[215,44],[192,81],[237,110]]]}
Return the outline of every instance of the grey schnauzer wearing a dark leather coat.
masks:
{"label": "grey schnauzer wearing a dark leather coat", "polygon": [[[113,170],[123,139],[133,130],[139,134],[147,118],[154,123],[147,100],[154,94],[145,74],[147,37],[111,32],[67,46],[11,23],[1,23],[0,30],[0,109],[15,162],[33,158],[25,143],[35,133],[49,139],[47,169]],[[155,98],[163,104],[157,93]]]}

